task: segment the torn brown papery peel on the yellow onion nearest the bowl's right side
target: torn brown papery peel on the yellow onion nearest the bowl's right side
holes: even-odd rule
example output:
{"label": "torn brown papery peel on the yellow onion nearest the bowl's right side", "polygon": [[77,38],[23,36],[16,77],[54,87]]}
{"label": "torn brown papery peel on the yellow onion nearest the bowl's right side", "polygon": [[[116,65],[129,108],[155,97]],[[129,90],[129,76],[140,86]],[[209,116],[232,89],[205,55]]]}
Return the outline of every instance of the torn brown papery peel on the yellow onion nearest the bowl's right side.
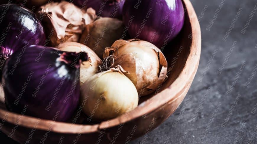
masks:
{"label": "torn brown papery peel on the yellow onion nearest the bowl's right side", "polygon": [[[149,47],[154,50],[159,60],[159,73],[146,72],[144,64],[140,63],[141,61],[137,59],[133,54],[117,54],[119,48],[125,44],[131,42],[139,43],[144,47]],[[126,71],[129,71],[129,74],[125,74],[136,86],[139,96],[145,96],[154,92],[167,78],[167,60],[160,49],[155,47],[153,44],[141,41],[140,39],[129,39],[129,40],[117,40],[113,43],[111,48],[105,48],[103,58],[114,54],[114,64],[121,65]],[[115,56],[117,54],[117,56]],[[151,66],[149,66],[151,67]],[[150,75],[147,75],[150,74]],[[154,78],[154,80],[149,80],[149,77]]]}

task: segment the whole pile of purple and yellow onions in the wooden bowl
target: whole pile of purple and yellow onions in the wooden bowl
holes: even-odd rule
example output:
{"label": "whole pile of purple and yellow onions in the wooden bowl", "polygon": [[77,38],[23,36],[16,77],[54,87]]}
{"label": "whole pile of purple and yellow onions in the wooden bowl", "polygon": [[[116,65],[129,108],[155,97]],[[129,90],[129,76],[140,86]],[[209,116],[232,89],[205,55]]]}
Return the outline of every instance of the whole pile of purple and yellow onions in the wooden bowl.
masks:
{"label": "whole pile of purple and yellow onions in the wooden bowl", "polygon": [[0,5],[0,102],[62,122],[79,105],[88,121],[110,120],[158,92],[162,50],[184,23],[181,0],[14,2]]}

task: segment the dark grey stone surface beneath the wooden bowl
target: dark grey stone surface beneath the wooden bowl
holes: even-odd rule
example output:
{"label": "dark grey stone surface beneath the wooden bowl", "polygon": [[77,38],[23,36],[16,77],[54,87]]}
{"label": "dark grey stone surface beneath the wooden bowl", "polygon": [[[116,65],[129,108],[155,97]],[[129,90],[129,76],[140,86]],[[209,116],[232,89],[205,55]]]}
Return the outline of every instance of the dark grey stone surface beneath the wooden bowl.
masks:
{"label": "dark grey stone surface beneath the wooden bowl", "polygon": [[[224,5],[208,32],[206,27],[222,1],[225,1]],[[172,116],[149,133],[144,144],[245,144],[251,140],[252,144],[257,143],[257,133],[254,132],[257,114],[251,113],[257,105],[257,76],[254,76],[251,84],[245,87],[245,82],[251,76],[254,65],[257,64],[255,35],[257,13],[253,16],[245,34],[240,33],[256,2],[254,0],[192,0],[198,16],[201,16],[204,6],[208,6],[200,21],[202,50],[199,69],[185,100]],[[239,8],[243,10],[225,42],[222,38]],[[221,75],[218,75],[217,71],[225,61],[225,56],[230,52],[234,41],[237,41],[235,48]],[[215,49],[217,52],[212,60],[211,56],[215,53]],[[209,59],[212,61],[208,63]],[[231,94],[227,94],[244,61],[246,63],[240,77],[236,78],[238,81],[235,81]],[[207,71],[204,70],[206,68]],[[199,81],[200,76],[205,72],[202,82]],[[205,93],[207,95],[204,100]],[[240,97],[236,100],[238,94]],[[236,105],[235,101],[238,101]],[[193,116],[196,118],[192,119]],[[222,127],[226,117],[229,120],[225,127]],[[144,137],[138,138],[130,144],[140,144],[144,139]],[[6,143],[15,144],[2,133],[0,140],[0,143],[3,140],[9,140]]]}

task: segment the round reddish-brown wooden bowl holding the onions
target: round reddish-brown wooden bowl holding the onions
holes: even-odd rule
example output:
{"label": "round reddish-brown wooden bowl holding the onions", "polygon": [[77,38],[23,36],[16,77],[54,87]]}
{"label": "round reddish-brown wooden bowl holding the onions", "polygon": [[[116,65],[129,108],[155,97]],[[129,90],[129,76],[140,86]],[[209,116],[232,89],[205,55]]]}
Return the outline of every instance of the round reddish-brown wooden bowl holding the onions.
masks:
{"label": "round reddish-brown wooden bowl holding the onions", "polygon": [[[189,0],[183,0],[187,11],[185,24],[173,42],[163,51],[168,61],[168,79],[157,94],[141,97],[139,106],[115,119],[99,124],[82,125],[38,120],[35,117],[0,109],[0,130],[19,143],[31,144],[109,144],[126,143],[163,123],[180,105],[196,74],[201,31]],[[2,124],[1,124],[2,123]]]}

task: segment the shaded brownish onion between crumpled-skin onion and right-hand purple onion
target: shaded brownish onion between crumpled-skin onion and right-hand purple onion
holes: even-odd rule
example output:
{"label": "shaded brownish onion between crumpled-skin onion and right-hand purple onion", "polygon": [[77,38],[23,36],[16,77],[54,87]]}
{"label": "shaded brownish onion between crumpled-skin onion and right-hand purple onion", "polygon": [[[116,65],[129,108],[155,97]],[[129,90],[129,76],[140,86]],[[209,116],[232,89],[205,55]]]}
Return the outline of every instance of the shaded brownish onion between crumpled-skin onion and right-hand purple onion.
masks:
{"label": "shaded brownish onion between crumpled-skin onion and right-hand purple onion", "polygon": [[80,43],[90,47],[99,57],[103,57],[105,47],[110,47],[117,39],[126,38],[124,24],[114,18],[99,18],[85,26]]}

